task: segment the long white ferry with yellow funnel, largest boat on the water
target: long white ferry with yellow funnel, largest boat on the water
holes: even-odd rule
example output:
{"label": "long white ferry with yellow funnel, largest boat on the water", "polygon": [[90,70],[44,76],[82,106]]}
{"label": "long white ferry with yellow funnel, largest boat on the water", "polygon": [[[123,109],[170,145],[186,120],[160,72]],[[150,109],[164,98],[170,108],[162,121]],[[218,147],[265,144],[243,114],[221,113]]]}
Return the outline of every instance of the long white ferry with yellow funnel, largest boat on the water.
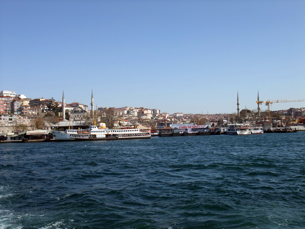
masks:
{"label": "long white ferry with yellow funnel, largest boat on the water", "polygon": [[56,141],[94,141],[151,138],[150,128],[127,127],[122,129],[106,129],[90,125],[89,129],[66,129],[51,131]]}

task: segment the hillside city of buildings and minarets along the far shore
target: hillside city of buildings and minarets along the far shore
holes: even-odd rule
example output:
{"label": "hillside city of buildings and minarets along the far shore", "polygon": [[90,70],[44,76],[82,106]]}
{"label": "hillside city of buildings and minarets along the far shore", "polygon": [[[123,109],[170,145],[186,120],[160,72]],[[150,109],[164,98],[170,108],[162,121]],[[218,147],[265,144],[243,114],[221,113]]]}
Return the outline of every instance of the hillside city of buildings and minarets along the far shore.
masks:
{"label": "hillside city of buildings and minarets along the far shore", "polygon": [[[80,103],[66,103],[53,98],[27,98],[15,91],[1,91],[0,93],[0,132],[16,131],[18,129],[53,129],[65,128],[68,121],[79,126],[89,125],[95,118],[103,121],[106,113],[111,111],[115,118],[113,126],[139,122],[152,129],[166,127],[173,123],[194,125],[225,126],[228,122],[244,122],[251,124],[265,124],[269,122],[268,112],[244,108],[239,111],[237,95],[237,112],[235,114],[184,114],[177,112],[169,114],[157,108],[147,107],[94,107],[93,92],[91,95],[91,109]],[[300,125],[305,123],[305,108],[289,108],[287,110],[272,111],[272,125]],[[270,115],[270,114],[269,114]],[[269,122],[270,123],[270,122]],[[107,125],[107,122],[106,122]],[[110,124],[108,124],[110,125]],[[22,127],[22,128],[21,128]]]}

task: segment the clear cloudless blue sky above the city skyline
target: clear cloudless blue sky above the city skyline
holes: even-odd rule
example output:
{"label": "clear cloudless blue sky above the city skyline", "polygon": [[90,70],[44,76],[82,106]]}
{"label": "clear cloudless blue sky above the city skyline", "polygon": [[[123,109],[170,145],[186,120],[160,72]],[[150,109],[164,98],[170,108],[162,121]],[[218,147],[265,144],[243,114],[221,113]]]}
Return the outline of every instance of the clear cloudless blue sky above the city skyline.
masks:
{"label": "clear cloudless blue sky above the city skyline", "polygon": [[[305,1],[0,1],[2,90],[233,113],[305,99]],[[274,104],[272,110],[305,107]],[[261,106],[265,110],[266,106]]]}

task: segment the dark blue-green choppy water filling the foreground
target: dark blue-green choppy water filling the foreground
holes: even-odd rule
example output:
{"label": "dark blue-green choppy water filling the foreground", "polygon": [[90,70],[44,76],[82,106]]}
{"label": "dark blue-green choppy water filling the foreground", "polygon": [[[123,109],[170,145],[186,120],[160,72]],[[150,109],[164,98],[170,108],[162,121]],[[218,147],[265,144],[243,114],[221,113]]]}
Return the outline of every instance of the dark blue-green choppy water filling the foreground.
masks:
{"label": "dark blue-green choppy water filling the foreground", "polygon": [[0,144],[0,228],[304,228],[304,137]]}

